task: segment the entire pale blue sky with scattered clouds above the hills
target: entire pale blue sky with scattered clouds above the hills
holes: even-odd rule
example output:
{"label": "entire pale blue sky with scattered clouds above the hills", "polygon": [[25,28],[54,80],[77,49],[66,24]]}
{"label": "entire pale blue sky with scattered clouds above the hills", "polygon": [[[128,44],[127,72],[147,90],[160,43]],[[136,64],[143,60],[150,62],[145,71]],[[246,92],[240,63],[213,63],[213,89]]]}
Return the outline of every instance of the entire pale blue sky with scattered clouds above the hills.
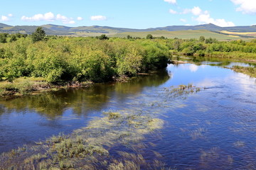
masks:
{"label": "entire pale blue sky with scattered clouds above the hills", "polygon": [[157,28],[252,26],[256,0],[0,0],[0,23],[11,26]]}

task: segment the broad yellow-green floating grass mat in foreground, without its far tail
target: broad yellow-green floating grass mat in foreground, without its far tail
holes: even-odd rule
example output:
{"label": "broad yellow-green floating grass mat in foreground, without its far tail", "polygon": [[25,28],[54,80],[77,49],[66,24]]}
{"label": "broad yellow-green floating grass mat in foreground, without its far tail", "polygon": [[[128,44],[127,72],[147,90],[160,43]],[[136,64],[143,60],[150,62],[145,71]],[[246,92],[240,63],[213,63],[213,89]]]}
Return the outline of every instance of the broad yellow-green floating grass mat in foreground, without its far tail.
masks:
{"label": "broad yellow-green floating grass mat in foreground, without its far tail", "polygon": [[[163,127],[164,121],[149,115],[104,112],[90,124],[70,135],[50,137],[31,147],[13,149],[0,157],[2,169],[139,169],[146,166],[141,154],[119,152],[113,159],[109,150],[129,146],[144,135]],[[105,159],[111,159],[105,163]],[[86,168],[87,167],[87,168]]]}

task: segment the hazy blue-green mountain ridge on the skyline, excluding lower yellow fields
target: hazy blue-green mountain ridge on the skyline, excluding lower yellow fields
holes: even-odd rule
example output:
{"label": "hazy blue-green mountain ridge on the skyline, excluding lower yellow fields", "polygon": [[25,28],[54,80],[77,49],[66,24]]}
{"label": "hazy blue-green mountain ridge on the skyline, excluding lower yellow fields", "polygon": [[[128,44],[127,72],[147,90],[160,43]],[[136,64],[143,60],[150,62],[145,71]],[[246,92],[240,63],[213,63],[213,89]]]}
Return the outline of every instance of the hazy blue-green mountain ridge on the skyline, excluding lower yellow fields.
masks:
{"label": "hazy blue-green mountain ridge on the skyline, excluding lower yellow fields", "polygon": [[[39,26],[9,26],[4,23],[0,23],[0,33],[33,33]],[[215,26],[213,23],[196,25],[196,26],[166,26],[158,28],[116,28],[110,26],[58,26],[54,24],[42,25],[47,35],[77,35],[79,33],[105,33],[105,34],[117,34],[124,32],[149,32],[154,30],[166,30],[166,31],[177,31],[177,30],[210,30],[210,31],[230,31],[230,32],[255,32],[256,26],[234,26],[234,27],[220,27]]]}

